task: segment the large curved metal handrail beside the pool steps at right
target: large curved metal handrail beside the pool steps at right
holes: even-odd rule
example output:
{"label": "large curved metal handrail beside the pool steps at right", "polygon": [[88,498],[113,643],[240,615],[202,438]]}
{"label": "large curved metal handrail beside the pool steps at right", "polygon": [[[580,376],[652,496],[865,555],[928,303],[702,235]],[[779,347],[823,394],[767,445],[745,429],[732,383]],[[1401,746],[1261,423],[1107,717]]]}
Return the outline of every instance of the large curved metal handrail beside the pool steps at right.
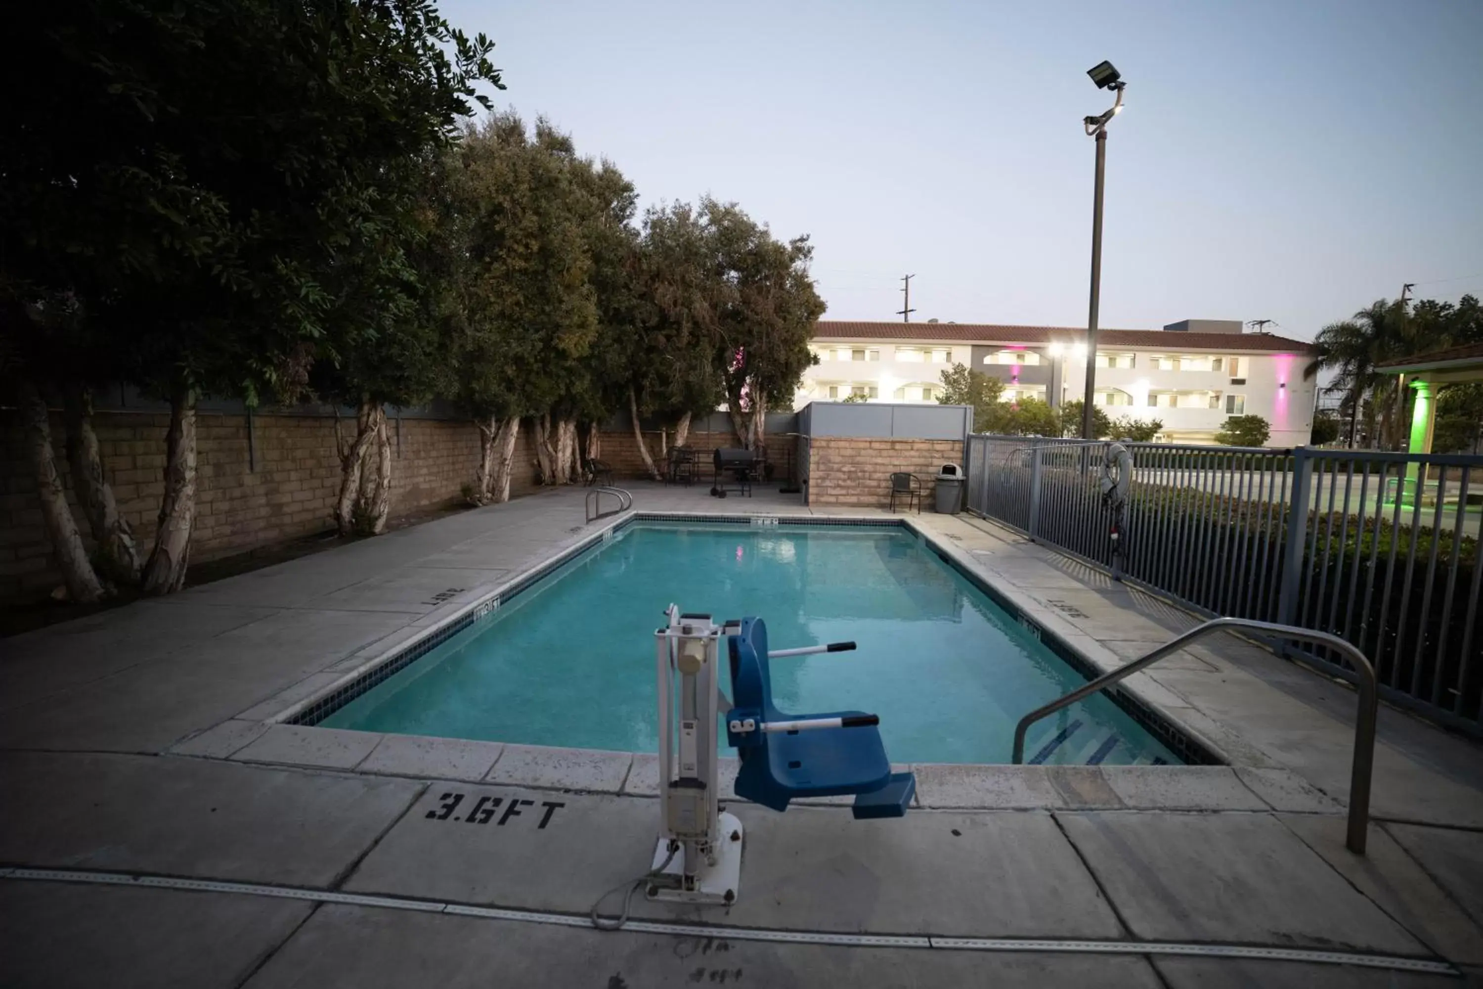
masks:
{"label": "large curved metal handrail beside the pool steps at right", "polygon": [[1375,667],[1372,667],[1370,661],[1364,658],[1364,654],[1352,644],[1345,642],[1339,636],[1327,632],[1314,632],[1312,629],[1299,629],[1296,626],[1280,626],[1271,621],[1252,621],[1250,618],[1212,618],[1210,621],[1195,626],[1183,635],[1170,639],[1152,652],[1140,655],[1127,666],[1115,669],[1111,673],[1103,673],[1090,684],[1078,687],[1065,697],[1057,697],[1044,707],[1037,707],[1031,713],[1020,718],[1019,724],[1014,725],[1014,765],[1019,765],[1025,759],[1025,732],[1041,718],[1053,715],[1062,707],[1069,707],[1083,697],[1096,694],[1097,691],[1137,673],[1145,666],[1152,666],[1170,652],[1178,652],[1194,639],[1200,639],[1212,632],[1221,632],[1225,629],[1246,629],[1249,632],[1261,632],[1280,639],[1324,645],[1330,649],[1342,652],[1350,658],[1350,663],[1354,664],[1354,672],[1358,673],[1360,679],[1360,709],[1354,722],[1354,764],[1350,770],[1350,829],[1345,845],[1348,845],[1350,851],[1354,854],[1363,856],[1366,827],[1370,818],[1370,777],[1375,771],[1375,718],[1379,712],[1379,689],[1375,684]]}

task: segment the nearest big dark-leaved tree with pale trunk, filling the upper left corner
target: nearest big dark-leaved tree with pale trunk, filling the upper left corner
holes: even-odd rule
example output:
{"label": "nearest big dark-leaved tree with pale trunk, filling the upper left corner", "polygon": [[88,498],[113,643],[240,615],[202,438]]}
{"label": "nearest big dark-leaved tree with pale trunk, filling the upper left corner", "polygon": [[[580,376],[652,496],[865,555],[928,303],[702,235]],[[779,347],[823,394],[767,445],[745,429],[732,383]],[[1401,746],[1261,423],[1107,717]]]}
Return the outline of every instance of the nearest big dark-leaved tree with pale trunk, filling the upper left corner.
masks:
{"label": "nearest big dark-leaved tree with pale trunk, filling the upper left corner", "polygon": [[28,301],[71,294],[116,374],[169,399],[142,586],[176,590],[199,396],[292,394],[314,360],[386,332],[343,304],[365,313],[360,289],[406,285],[405,254],[386,249],[406,236],[405,166],[446,144],[478,80],[498,85],[492,44],[394,0],[95,0],[25,16],[43,68],[0,141],[3,332],[25,332]]}

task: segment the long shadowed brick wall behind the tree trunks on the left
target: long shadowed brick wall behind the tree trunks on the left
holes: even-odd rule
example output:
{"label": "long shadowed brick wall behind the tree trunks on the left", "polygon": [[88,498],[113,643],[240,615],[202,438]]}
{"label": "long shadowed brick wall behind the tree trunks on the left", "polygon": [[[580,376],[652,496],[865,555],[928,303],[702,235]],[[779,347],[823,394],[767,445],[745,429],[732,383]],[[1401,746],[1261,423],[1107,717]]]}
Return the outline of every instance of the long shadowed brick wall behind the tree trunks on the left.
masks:
{"label": "long shadowed brick wall behind the tree trunks on the left", "polygon": [[[154,535],[165,489],[162,414],[99,412],[93,420],[104,472],[120,513],[133,526],[141,553]],[[479,431],[470,423],[411,420],[387,424],[392,439],[392,513],[454,503],[473,480]],[[353,421],[341,423],[349,436]],[[248,460],[245,415],[197,415],[197,509],[191,559],[206,560],[332,528],[340,489],[335,421],[325,417],[257,415],[254,463]],[[52,420],[56,466],[71,480],[59,417]],[[632,440],[630,440],[632,442]],[[521,430],[510,494],[535,486],[529,430]],[[73,517],[90,543],[87,522],[73,501]],[[37,598],[61,584],[42,525],[36,480],[25,454],[19,417],[0,412],[0,601]]]}

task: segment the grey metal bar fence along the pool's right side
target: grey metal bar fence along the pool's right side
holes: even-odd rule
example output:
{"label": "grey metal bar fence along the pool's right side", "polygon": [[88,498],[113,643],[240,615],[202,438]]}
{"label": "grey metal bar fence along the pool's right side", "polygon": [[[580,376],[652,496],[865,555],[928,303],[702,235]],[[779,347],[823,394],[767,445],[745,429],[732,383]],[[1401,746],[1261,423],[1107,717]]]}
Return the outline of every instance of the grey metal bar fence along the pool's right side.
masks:
{"label": "grey metal bar fence along the pool's right side", "polygon": [[[970,512],[1207,615],[1330,632],[1381,694],[1483,735],[1483,458],[1124,443],[1114,512],[1106,442],[968,437]],[[1309,660],[1348,675],[1323,649]]]}

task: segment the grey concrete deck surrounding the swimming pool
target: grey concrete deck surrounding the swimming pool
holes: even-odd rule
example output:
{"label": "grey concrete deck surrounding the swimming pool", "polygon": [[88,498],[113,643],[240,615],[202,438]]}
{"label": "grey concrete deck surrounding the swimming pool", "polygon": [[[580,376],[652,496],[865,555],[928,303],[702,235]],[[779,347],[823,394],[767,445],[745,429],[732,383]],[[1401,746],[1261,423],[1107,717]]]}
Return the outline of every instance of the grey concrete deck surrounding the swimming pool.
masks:
{"label": "grey concrete deck surrounding the swimming pool", "polygon": [[[764,488],[633,491],[645,512],[808,512]],[[635,904],[706,931],[567,925],[648,864],[653,758],[271,719],[589,537],[581,503],[546,492],[0,641],[0,983],[1458,985],[1167,953],[1183,942],[1483,980],[1480,747],[1382,709],[1355,857],[1354,694],[1232,636],[1134,678],[1228,767],[916,767],[922,810],[900,821],[737,802],[740,902]],[[1197,621],[989,523],[912,519],[1102,664]]]}

